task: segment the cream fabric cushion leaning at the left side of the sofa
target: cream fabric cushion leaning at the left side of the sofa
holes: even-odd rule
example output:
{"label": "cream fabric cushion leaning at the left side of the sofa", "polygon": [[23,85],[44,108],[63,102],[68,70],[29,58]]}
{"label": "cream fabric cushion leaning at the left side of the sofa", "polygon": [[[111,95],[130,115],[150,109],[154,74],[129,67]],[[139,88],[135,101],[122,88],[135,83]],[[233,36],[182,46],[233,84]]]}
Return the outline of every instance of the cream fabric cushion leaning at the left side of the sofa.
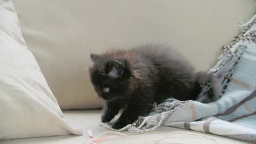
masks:
{"label": "cream fabric cushion leaning at the left side of the sofa", "polygon": [[0,140],[82,134],[64,118],[22,37],[12,1],[0,1]]}

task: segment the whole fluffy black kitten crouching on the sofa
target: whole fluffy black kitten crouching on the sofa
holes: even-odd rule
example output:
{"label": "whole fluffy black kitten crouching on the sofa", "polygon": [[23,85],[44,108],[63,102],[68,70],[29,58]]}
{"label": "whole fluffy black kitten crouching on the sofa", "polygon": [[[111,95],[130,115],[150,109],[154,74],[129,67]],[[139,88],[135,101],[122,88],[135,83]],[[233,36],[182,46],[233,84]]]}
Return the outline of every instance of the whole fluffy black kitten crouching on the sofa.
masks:
{"label": "whole fluffy black kitten crouching on the sofa", "polygon": [[91,54],[91,82],[106,100],[102,122],[109,122],[124,108],[113,125],[121,129],[145,116],[154,102],[173,97],[208,103],[219,99],[220,83],[212,75],[195,73],[181,56],[161,45],[141,46],[128,51]]}

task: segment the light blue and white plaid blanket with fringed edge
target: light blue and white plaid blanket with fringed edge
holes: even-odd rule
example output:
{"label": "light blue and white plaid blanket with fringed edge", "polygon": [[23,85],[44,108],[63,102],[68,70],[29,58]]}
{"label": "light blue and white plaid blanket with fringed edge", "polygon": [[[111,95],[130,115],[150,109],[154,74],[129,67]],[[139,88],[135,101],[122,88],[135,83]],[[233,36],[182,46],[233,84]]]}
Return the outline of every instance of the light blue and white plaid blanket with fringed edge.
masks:
{"label": "light blue and white plaid blanket with fringed edge", "polygon": [[[219,100],[205,104],[167,99],[148,117],[119,131],[147,132],[164,125],[256,143],[256,15],[244,26],[209,71],[222,81]],[[101,125],[111,129],[110,123]]]}

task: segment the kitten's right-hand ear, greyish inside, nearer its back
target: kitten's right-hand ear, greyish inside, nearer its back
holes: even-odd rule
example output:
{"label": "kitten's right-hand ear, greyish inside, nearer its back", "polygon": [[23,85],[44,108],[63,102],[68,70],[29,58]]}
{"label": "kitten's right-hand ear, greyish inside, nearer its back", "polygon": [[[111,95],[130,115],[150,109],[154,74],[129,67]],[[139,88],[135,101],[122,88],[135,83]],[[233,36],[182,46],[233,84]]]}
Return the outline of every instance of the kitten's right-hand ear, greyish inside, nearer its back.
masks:
{"label": "kitten's right-hand ear, greyish inside, nearer its back", "polygon": [[122,77],[126,68],[126,60],[113,60],[109,62],[111,70],[108,75],[112,78]]}

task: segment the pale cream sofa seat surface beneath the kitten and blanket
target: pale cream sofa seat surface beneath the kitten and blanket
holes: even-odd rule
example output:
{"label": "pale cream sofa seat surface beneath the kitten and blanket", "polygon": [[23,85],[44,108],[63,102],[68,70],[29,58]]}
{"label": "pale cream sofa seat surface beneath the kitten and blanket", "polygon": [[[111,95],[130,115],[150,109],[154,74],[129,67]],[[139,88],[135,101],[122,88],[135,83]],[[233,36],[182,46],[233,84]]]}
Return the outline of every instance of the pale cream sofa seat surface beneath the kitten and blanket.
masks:
{"label": "pale cream sofa seat surface beneath the kitten and blanket", "polygon": [[[111,131],[99,126],[101,110],[64,110],[64,116],[70,122],[70,125],[74,127],[80,127],[85,133],[84,135],[63,135],[58,137],[41,137],[41,138],[30,138],[30,139],[15,139],[15,140],[4,140],[0,141],[1,144],[87,144],[90,137],[87,135],[87,130],[92,130],[92,133],[97,137],[100,133]],[[198,143],[209,143],[209,144],[248,144],[248,142],[229,139],[227,137],[219,137],[218,135],[207,134],[197,131],[190,131],[185,129],[177,129],[174,127],[162,126],[159,129],[147,133],[131,133],[122,132],[128,134],[133,138],[141,140],[156,140],[157,138],[163,137],[163,135],[174,132],[166,137],[165,142],[182,143],[182,144],[198,144]],[[187,134],[188,133],[188,134]],[[189,135],[194,134],[194,135]],[[111,135],[111,134],[109,134]],[[208,137],[210,139],[207,139]],[[216,141],[216,142],[214,142]],[[147,144],[147,142],[139,142],[126,137],[121,137],[117,140],[103,141],[99,144]]]}

